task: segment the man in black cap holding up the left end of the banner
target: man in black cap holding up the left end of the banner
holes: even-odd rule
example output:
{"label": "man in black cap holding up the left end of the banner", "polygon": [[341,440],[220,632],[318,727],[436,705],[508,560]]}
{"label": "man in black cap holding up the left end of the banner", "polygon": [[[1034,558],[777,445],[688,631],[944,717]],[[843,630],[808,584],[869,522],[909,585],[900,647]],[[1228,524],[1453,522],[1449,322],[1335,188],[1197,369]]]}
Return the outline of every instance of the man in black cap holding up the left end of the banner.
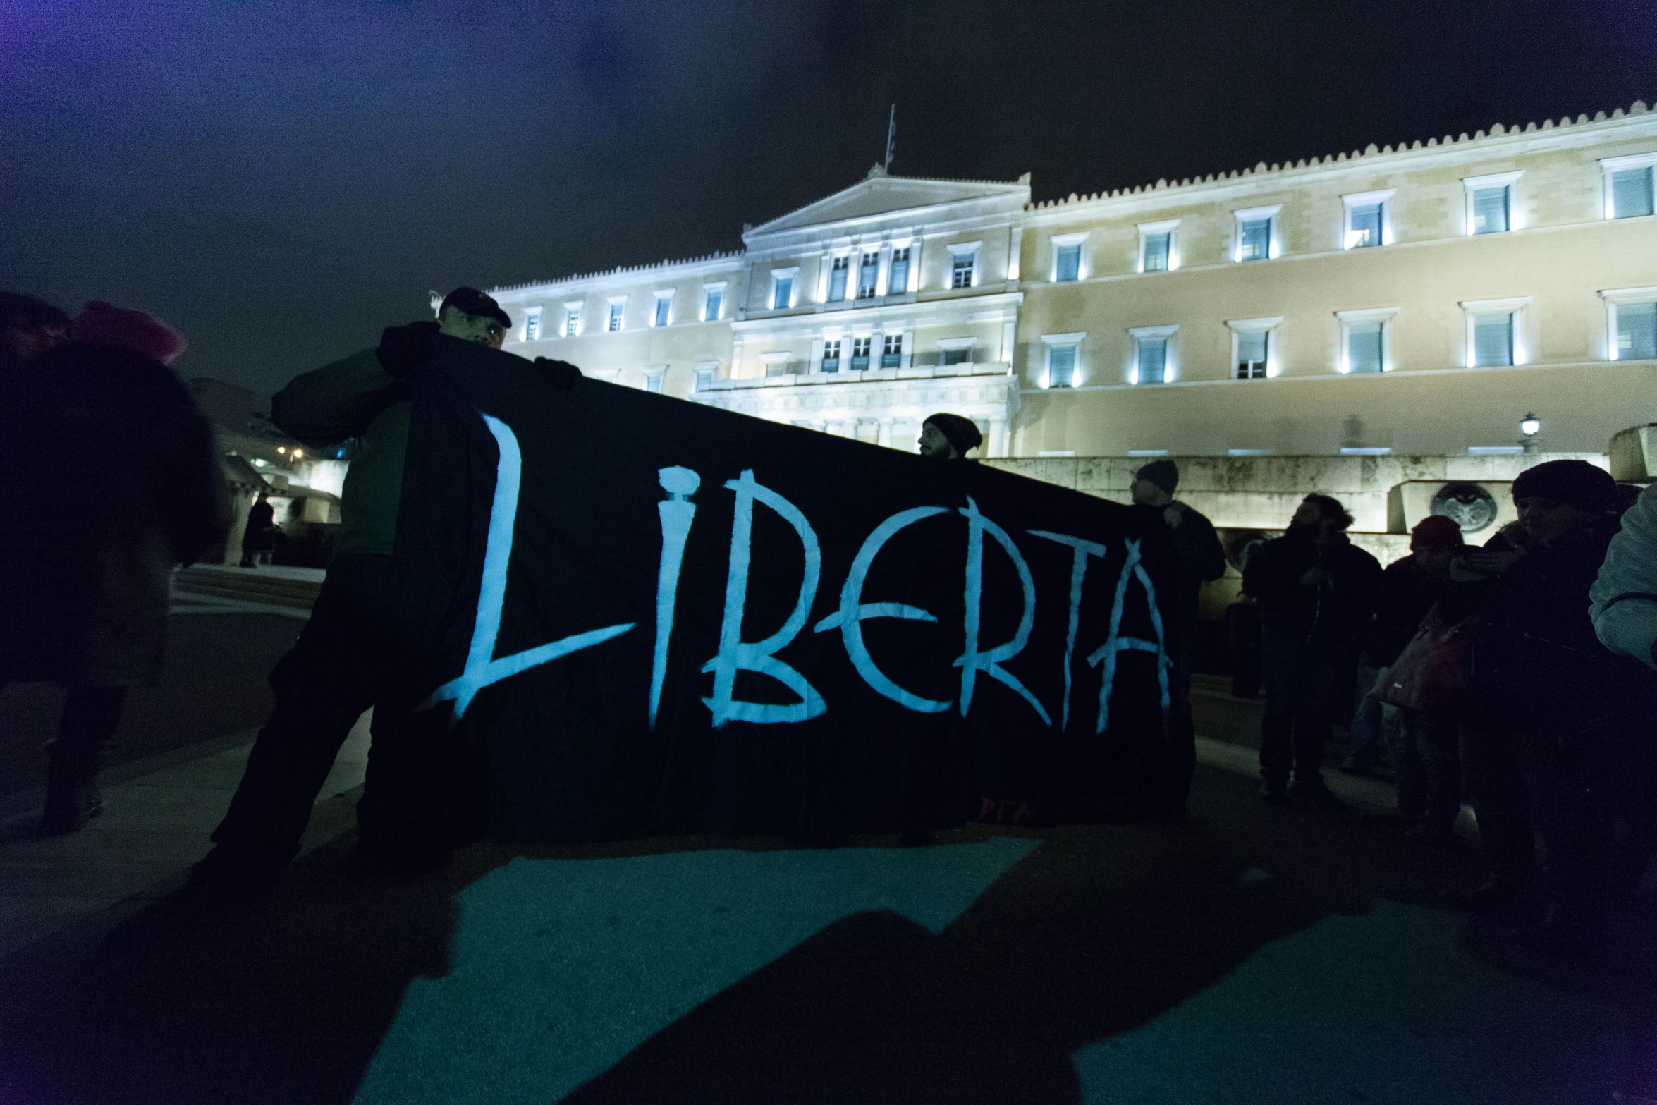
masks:
{"label": "man in black cap holding up the left end of the banner", "polygon": [[[277,706],[254,742],[217,847],[196,865],[194,888],[255,893],[300,850],[300,835],[335,755],[374,707],[368,779],[358,802],[363,856],[383,866],[431,866],[447,856],[437,800],[441,724],[416,714],[423,659],[393,595],[393,540],[403,494],[413,379],[444,341],[499,350],[512,320],[476,288],[456,288],[436,321],[388,326],[363,350],[278,391],[272,421],[308,446],[356,439],[340,495],[340,532],[310,623],[275,671]],[[553,386],[580,373],[537,359]]]}

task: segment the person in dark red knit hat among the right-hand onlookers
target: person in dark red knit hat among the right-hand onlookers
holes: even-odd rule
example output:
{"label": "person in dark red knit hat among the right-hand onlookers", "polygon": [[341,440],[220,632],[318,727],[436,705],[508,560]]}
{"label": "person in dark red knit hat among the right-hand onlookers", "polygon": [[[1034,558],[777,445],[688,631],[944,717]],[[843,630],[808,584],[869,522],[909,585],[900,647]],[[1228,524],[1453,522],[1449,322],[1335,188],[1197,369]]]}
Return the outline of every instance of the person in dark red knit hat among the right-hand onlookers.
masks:
{"label": "person in dark red knit hat among the right-hand onlookers", "polygon": [[[1385,678],[1399,653],[1415,638],[1450,581],[1450,562],[1463,550],[1461,527],[1455,519],[1432,514],[1410,530],[1410,555],[1387,565],[1380,575],[1375,625],[1364,656],[1375,671],[1370,686]],[[1458,719],[1380,706],[1369,697],[1369,691],[1370,688],[1359,688],[1364,701],[1380,707],[1384,714],[1382,727],[1392,742],[1399,813],[1415,822],[1403,835],[1420,843],[1453,842],[1455,818],[1461,812]]]}

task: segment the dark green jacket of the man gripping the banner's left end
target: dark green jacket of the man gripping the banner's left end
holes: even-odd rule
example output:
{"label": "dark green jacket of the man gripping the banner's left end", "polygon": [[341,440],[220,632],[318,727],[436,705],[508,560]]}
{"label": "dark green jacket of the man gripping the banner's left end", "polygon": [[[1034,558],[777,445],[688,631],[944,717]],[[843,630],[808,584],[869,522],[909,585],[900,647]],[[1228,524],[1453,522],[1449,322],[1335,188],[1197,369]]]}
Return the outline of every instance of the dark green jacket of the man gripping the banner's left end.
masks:
{"label": "dark green jacket of the man gripping the banner's left end", "polygon": [[270,399],[270,421],[307,446],[356,437],[340,494],[333,555],[391,555],[403,497],[411,384],[379,368],[373,350],[295,376]]}

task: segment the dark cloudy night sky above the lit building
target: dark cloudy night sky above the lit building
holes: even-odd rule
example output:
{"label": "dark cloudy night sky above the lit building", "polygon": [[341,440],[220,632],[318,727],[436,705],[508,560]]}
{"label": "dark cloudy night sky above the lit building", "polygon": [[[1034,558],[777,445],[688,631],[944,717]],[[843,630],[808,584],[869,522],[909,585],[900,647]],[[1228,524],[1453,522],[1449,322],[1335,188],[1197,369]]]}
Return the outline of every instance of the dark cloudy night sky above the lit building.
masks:
{"label": "dark cloudy night sky above the lit building", "polygon": [[862,179],[1036,199],[1657,99],[1657,0],[0,0],[0,287],[270,393],[428,288],[736,249]]}

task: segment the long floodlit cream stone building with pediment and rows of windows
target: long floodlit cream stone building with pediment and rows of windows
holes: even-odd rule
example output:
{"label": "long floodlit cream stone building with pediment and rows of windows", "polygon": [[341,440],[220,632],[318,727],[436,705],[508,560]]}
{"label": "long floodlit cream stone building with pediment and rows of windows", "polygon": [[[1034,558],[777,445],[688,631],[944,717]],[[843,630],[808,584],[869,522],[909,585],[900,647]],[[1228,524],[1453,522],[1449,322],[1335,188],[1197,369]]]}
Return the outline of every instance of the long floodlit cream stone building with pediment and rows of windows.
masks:
{"label": "long floodlit cream stone building with pediment and rows of windows", "polygon": [[1644,103],[1041,204],[875,167],[739,252],[492,295],[601,379],[898,449],[949,409],[1095,494],[1175,456],[1216,524],[1319,489],[1397,533],[1657,416],[1654,174]]}

